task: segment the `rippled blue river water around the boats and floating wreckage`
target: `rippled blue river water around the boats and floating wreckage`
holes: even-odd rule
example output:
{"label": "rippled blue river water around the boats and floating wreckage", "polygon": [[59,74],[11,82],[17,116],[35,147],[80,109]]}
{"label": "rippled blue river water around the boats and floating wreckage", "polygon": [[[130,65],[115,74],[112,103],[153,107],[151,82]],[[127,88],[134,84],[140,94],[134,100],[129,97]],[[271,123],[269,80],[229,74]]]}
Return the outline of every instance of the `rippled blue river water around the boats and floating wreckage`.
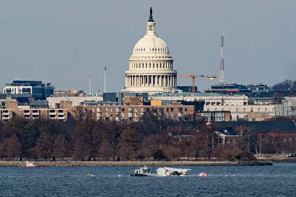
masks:
{"label": "rippled blue river water around the boats and floating wreckage", "polygon": [[295,163],[178,167],[191,171],[187,177],[127,177],[135,167],[0,167],[0,196],[296,196]]}

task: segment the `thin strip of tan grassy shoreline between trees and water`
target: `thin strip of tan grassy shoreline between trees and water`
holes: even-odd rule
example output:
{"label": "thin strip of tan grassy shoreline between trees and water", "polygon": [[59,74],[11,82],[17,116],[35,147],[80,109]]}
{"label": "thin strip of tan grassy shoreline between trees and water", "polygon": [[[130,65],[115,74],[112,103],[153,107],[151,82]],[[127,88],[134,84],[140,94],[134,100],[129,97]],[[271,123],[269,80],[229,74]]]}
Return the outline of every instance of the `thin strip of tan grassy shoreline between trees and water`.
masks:
{"label": "thin strip of tan grassy shoreline between trees and water", "polygon": [[[227,161],[65,161],[65,162],[35,162],[37,165],[42,166],[252,166],[252,163],[237,163]],[[1,161],[0,166],[18,166],[25,165],[25,161]]]}

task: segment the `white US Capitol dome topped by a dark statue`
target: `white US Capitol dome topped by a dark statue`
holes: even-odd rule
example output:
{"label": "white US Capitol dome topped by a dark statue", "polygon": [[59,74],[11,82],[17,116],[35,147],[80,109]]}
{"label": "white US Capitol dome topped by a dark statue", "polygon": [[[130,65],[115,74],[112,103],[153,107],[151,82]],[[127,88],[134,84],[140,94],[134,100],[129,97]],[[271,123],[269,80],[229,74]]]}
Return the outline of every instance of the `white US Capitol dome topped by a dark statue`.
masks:
{"label": "white US Capitol dome topped by a dark statue", "polygon": [[167,44],[155,34],[152,8],[147,22],[147,34],[141,38],[130,56],[130,67],[125,72],[123,92],[177,92],[177,71]]}

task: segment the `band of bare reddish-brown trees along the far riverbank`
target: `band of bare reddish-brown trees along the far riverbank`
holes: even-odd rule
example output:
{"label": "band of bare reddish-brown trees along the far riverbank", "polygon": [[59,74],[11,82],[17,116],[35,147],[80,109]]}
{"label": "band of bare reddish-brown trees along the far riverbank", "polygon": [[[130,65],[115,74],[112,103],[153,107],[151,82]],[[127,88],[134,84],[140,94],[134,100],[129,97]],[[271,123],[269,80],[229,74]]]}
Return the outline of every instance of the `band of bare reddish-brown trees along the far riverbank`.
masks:
{"label": "band of bare reddish-brown trees along the far riverbank", "polygon": [[[214,123],[172,121],[146,113],[138,122],[93,120],[91,112],[68,122],[14,117],[0,123],[0,158],[14,161],[179,161],[213,157],[253,160],[255,154],[295,150],[295,137],[260,136],[244,127],[236,143],[222,143]],[[89,114],[89,115],[87,115]],[[230,128],[231,129],[231,128]]]}

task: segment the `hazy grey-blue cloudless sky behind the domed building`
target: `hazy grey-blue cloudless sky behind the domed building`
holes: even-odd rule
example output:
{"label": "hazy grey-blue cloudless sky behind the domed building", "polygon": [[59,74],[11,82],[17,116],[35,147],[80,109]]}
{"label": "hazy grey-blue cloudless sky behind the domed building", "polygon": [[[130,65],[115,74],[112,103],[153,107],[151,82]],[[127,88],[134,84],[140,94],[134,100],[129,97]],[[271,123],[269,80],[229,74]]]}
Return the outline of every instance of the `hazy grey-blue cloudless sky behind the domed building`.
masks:
{"label": "hazy grey-blue cloudless sky behind the domed building", "polygon": [[[123,89],[150,6],[178,73],[219,76],[224,31],[225,82],[296,80],[295,1],[2,1],[0,86],[21,78],[88,92],[91,73],[97,93],[106,65],[107,91]],[[196,80],[200,91],[214,83]]]}

